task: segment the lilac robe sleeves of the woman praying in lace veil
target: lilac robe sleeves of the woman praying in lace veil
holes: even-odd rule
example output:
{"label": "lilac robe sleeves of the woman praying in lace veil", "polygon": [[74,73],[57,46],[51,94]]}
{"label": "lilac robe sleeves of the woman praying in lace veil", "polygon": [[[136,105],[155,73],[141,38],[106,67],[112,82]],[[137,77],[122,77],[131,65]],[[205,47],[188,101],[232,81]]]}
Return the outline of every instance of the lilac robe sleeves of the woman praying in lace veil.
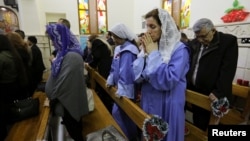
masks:
{"label": "lilac robe sleeves of the woman praying in lace veil", "polygon": [[179,51],[172,54],[171,61],[168,64],[163,62],[159,51],[153,51],[146,57],[144,70],[141,67],[143,60],[138,58],[133,63],[136,81],[141,81],[143,78],[157,90],[171,90],[180,81],[186,71],[185,68],[187,68],[186,62],[189,60],[188,50],[181,49],[182,51],[177,49]]}

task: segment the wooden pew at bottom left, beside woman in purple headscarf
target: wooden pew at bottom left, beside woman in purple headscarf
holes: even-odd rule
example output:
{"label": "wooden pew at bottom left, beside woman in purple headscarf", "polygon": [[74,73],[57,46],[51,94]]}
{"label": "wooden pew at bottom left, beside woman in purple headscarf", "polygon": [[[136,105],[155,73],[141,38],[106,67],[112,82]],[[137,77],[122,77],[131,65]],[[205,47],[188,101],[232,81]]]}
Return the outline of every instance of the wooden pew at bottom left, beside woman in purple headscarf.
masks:
{"label": "wooden pew at bottom left, beside woman in purple headscarf", "polygon": [[35,92],[34,98],[38,97],[40,102],[39,115],[15,123],[5,141],[42,141],[50,116],[50,108],[44,106],[46,95],[44,92]]}

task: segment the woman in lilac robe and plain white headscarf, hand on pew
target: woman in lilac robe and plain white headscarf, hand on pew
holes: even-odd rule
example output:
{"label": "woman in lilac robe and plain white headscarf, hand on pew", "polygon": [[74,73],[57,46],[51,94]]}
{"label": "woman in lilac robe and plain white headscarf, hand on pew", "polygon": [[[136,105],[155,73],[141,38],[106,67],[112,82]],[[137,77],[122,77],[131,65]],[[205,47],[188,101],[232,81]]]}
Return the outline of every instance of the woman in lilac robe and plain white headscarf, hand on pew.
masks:
{"label": "woman in lilac robe and plain white headscarf, hand on pew", "polygon": [[[139,53],[136,35],[130,32],[124,24],[116,24],[110,30],[116,45],[111,71],[107,79],[107,86],[117,87],[118,97],[135,100],[133,61]],[[129,140],[135,140],[137,127],[124,111],[114,104],[112,115]]]}

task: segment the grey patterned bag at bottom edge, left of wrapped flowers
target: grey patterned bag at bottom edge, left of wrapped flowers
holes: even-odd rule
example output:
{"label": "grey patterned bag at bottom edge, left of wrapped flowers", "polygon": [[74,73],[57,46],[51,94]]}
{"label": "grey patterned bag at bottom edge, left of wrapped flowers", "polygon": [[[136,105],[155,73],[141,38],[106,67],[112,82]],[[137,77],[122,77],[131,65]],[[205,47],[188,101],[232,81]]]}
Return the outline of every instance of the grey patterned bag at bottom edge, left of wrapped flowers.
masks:
{"label": "grey patterned bag at bottom edge, left of wrapped flowers", "polygon": [[86,141],[128,141],[113,125],[89,133]]}

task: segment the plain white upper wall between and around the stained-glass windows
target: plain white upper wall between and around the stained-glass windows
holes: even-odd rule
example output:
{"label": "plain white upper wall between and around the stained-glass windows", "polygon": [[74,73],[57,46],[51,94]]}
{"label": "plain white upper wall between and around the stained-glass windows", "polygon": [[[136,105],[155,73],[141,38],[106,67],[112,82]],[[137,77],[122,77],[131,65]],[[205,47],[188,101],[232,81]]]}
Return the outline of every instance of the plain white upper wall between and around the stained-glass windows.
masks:
{"label": "plain white upper wall between and around the stained-glass windows", "polygon": [[[190,26],[199,18],[210,18],[215,25],[223,24],[220,19],[227,8],[232,7],[234,0],[192,0]],[[46,14],[66,15],[72,23],[72,32],[79,34],[77,0],[17,0],[20,27],[26,33],[43,35],[47,24]],[[249,0],[239,0],[250,11]],[[108,28],[117,22],[128,25],[135,33],[140,33],[142,15],[149,10],[161,7],[162,0],[107,0]],[[3,1],[0,1],[3,5]],[[14,10],[15,11],[15,10]],[[58,17],[59,18],[59,17]],[[247,19],[250,21],[250,16]]]}

